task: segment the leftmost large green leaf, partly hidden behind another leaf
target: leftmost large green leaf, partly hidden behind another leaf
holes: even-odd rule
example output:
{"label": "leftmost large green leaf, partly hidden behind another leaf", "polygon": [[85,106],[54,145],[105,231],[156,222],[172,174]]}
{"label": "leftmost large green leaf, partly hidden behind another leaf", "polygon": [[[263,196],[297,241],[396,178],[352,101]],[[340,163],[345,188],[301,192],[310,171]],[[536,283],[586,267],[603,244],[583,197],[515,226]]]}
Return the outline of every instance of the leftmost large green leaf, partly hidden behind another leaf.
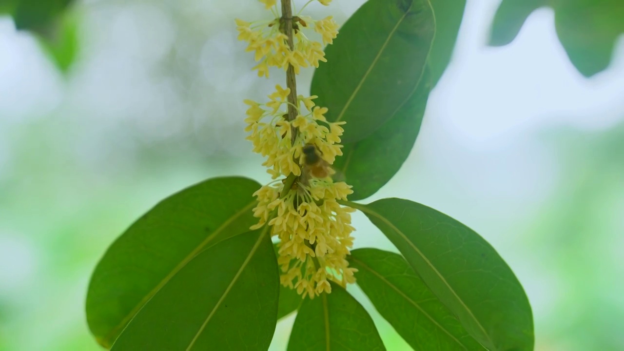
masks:
{"label": "leftmost large green leaf, partly hidden behind another leaf", "polygon": [[255,224],[257,182],[209,179],[157,204],[109,247],[91,277],[87,322],[109,348],[137,312],[203,249]]}

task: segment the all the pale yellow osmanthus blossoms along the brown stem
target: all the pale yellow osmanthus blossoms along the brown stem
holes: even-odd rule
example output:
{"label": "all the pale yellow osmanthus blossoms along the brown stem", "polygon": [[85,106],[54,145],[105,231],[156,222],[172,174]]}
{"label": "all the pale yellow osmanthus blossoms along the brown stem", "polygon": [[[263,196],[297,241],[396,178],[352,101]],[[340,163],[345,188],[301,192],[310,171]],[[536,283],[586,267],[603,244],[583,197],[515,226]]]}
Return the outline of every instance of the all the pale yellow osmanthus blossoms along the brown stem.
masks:
{"label": "all the pale yellow osmanthus blossoms along the brown stem", "polygon": [[[260,76],[268,76],[269,66],[288,69],[290,65],[299,72],[300,67],[325,61],[322,44],[308,39],[303,29],[313,27],[324,44],[331,44],[338,33],[331,17],[316,21],[293,16],[291,50],[276,1],[260,1],[273,12],[274,19],[236,20],[239,39],[249,42],[248,51],[255,51],[255,59],[260,61],[255,67]],[[356,269],[346,260],[353,246],[354,209],[338,203],[353,191],[350,185],[331,178],[331,164],[342,155],[344,122],[328,122],[324,117],[328,109],[314,104],[317,96],[299,95],[289,101],[290,93],[290,88],[278,85],[265,103],[245,100],[249,106],[247,139],[253,142],[254,152],[266,157],[263,166],[275,179],[254,194],[258,204],[253,212],[259,220],[251,229],[270,225],[271,234],[280,240],[281,284],[314,298],[331,292],[329,280],[343,286],[355,281]]]}

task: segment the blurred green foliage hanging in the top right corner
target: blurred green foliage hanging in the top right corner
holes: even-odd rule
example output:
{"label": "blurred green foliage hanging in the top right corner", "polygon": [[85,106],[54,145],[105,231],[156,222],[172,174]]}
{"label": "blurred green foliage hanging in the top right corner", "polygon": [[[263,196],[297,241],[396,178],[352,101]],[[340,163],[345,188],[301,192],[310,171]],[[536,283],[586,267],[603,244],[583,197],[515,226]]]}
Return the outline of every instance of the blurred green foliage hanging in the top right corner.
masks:
{"label": "blurred green foliage hanging in the top right corner", "polygon": [[624,33],[622,0],[503,0],[490,45],[509,44],[529,14],[542,6],[555,10],[557,35],[579,72],[590,77],[607,68],[615,42]]}

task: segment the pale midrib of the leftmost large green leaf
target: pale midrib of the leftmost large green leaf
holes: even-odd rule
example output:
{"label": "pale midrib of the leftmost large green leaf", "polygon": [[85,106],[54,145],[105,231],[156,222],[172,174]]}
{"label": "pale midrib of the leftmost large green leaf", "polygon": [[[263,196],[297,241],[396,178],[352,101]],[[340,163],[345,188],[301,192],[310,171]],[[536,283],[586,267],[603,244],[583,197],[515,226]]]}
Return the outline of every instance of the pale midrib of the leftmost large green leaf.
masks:
{"label": "pale midrib of the leftmost large green leaf", "polygon": [[135,307],[132,310],[130,310],[129,314],[127,314],[124,317],[124,319],[122,319],[122,321],[119,322],[119,324],[115,325],[115,327],[110,330],[109,334],[107,334],[104,337],[104,339],[102,339],[102,342],[105,344],[110,344],[110,338],[115,337],[117,335],[117,332],[119,332],[120,329],[125,327],[125,325],[127,325],[128,322],[130,322],[132,317],[134,317],[134,315],[136,315],[137,312],[139,312],[139,310],[147,303],[147,301],[149,301],[150,299],[152,299],[152,297],[154,297],[154,295],[158,292],[158,290],[162,289],[162,287],[165,286],[165,284],[167,284],[167,282],[173,277],[173,275],[177,274],[177,272],[183,269],[188,264],[188,262],[190,262],[190,260],[192,260],[193,257],[195,257],[195,255],[198,254],[198,252],[200,252],[206,245],[208,245],[217,236],[217,234],[219,234],[225,228],[227,228],[230,224],[232,224],[232,222],[234,222],[235,219],[238,219],[238,217],[240,217],[245,212],[250,210],[251,207],[253,207],[253,205],[255,204],[256,204],[255,200],[251,201],[249,204],[245,205],[243,209],[236,212],[234,215],[232,215],[232,217],[225,220],[225,222],[223,222],[223,224],[220,225],[220,227],[215,229],[214,232],[208,235],[206,239],[204,239],[199,245],[197,245],[197,247],[195,247],[195,249],[193,249],[193,251],[191,251],[190,254],[188,254],[180,262],[180,264],[175,266],[175,268],[171,272],[165,275],[165,277],[158,283],[158,285],[156,285],[154,289],[150,290],[150,292],[147,295],[145,295],[142,300],[140,300],[139,304],[135,305]]}

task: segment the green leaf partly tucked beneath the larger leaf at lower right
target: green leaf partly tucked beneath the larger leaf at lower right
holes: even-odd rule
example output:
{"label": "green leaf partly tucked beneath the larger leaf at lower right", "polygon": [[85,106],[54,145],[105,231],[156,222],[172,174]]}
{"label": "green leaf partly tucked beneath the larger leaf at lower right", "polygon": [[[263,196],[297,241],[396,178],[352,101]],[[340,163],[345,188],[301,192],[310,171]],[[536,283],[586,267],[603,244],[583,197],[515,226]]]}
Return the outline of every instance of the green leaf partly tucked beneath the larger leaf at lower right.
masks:
{"label": "green leaf partly tucked beneath the larger leaf at lower right", "polygon": [[351,251],[359,287],[414,350],[484,350],[399,254]]}

